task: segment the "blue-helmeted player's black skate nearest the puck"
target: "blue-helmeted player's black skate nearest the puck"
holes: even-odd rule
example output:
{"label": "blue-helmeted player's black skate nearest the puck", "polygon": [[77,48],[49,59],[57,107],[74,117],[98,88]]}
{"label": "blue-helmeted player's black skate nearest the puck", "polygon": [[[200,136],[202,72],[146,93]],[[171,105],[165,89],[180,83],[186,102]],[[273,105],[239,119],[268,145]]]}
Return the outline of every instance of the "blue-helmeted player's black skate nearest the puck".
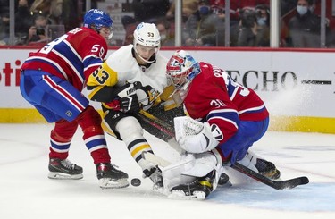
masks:
{"label": "blue-helmeted player's black skate nearest the puck", "polygon": [[102,189],[124,188],[129,186],[128,174],[117,170],[113,164],[96,164],[96,177]]}

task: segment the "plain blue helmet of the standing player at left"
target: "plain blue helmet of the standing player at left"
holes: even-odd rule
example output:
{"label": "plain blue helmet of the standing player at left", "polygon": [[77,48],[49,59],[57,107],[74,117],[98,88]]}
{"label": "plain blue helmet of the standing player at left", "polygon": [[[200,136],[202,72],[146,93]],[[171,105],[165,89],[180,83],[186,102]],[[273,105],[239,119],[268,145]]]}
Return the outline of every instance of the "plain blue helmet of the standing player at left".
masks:
{"label": "plain blue helmet of the standing player at left", "polygon": [[110,29],[113,32],[112,18],[102,10],[91,9],[84,15],[83,26],[90,29],[95,29],[97,32],[101,28]]}

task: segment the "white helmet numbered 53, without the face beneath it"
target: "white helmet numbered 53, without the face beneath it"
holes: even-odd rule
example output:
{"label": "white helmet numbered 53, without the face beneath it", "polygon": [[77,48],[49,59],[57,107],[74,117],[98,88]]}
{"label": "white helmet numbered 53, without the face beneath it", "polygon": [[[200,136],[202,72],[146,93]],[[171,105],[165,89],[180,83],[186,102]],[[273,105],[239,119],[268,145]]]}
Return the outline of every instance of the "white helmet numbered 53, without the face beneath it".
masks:
{"label": "white helmet numbered 53, without the face beneath it", "polygon": [[[134,31],[134,49],[138,55],[137,45],[154,47],[155,54],[161,47],[161,36],[154,23],[141,22]],[[141,55],[138,55],[146,63],[154,63],[154,61],[147,61]]]}

